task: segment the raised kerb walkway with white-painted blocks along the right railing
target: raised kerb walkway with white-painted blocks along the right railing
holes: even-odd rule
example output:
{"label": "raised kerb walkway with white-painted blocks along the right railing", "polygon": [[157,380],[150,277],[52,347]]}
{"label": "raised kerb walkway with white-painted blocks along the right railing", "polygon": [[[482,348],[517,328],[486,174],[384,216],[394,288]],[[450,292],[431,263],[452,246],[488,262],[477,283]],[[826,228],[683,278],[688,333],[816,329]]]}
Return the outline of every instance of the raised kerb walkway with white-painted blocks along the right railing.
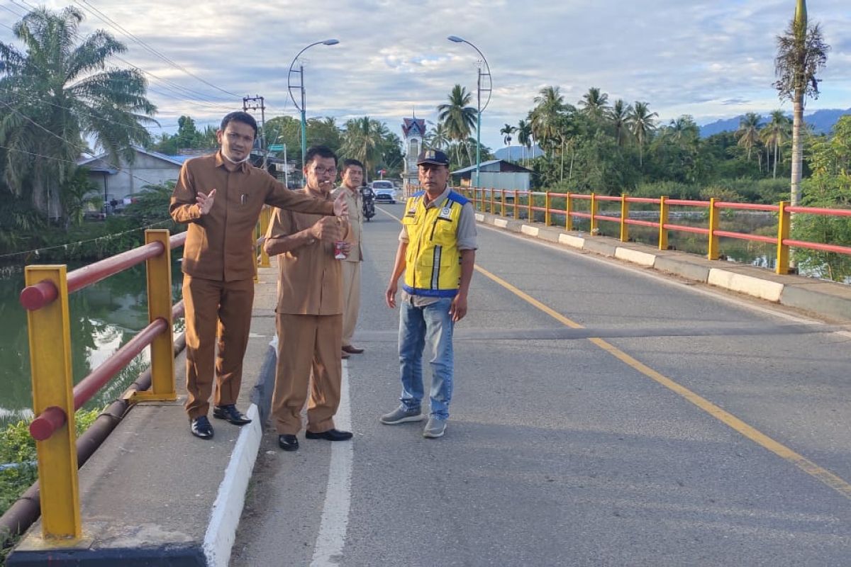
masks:
{"label": "raised kerb walkway with white-painted blocks along the right railing", "polygon": [[620,242],[605,236],[568,232],[557,227],[545,227],[543,224],[511,220],[488,213],[476,213],[476,219],[500,229],[618,258],[690,281],[801,309],[828,320],[851,320],[851,286],[844,284],[800,275],[777,275],[768,269],[746,264],[707,260],[685,252],[660,251],[656,247],[637,242]]}

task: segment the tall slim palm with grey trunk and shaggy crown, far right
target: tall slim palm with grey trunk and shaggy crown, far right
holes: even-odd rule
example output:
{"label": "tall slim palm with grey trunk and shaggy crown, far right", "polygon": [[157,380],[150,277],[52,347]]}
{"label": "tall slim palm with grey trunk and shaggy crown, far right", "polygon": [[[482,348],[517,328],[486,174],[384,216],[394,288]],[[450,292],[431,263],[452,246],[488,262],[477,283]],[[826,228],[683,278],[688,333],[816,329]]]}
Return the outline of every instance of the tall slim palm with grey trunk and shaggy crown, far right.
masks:
{"label": "tall slim palm with grey trunk and shaggy crown, far right", "polygon": [[803,156],[803,125],[804,98],[819,97],[819,82],[815,74],[827,62],[827,52],[830,47],[821,37],[818,25],[807,24],[807,2],[797,0],[795,17],[782,36],[777,37],[777,57],[774,59],[774,73],[777,82],[774,87],[780,94],[780,99],[790,99],[792,111],[792,171],[791,171],[791,205],[797,206],[801,201],[801,173]]}

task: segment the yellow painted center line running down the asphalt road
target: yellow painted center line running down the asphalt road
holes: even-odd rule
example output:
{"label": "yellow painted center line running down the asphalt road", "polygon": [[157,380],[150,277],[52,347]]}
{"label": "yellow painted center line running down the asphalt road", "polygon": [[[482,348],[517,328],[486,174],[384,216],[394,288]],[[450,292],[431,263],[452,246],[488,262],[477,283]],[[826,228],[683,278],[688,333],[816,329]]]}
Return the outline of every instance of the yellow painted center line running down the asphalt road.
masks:
{"label": "yellow painted center line running down the asphalt road", "polygon": [[[584,328],[579,323],[573,320],[569,320],[564,315],[558,313],[555,309],[551,309],[544,303],[541,303],[537,299],[528,295],[528,293],[520,291],[519,289],[517,289],[517,287],[512,286],[510,283],[501,279],[499,276],[491,274],[490,272],[488,272],[487,269],[476,265],[476,270],[485,277],[489,278],[490,280],[493,280],[496,283],[500,284],[500,286],[505,287],[505,289],[515,294],[518,298],[521,298],[523,299],[523,301],[526,301],[527,303],[530,303],[534,307],[540,309],[546,315],[550,315],[553,319],[559,321],[563,325],[571,327],[573,329]],[[632,358],[629,354],[626,354],[624,351],[618,349],[610,343],[607,343],[603,339],[590,338],[588,340],[608,352],[608,354],[612,354],[615,358],[621,360],[627,366],[631,366],[632,368],[641,372],[644,376],[651,378],[655,382],[660,383],[662,386],[665,386],[665,388],[670,389],[675,394],[679,394],[686,400],[690,401],[692,404],[697,405],[701,410],[705,411],[712,417],[715,417],[718,421],[724,423],[729,428],[733,428],[735,431],[744,435],[746,438],[751,439],[751,441],[753,441],[757,445],[761,445],[765,449],[768,449],[768,451],[773,452],[775,455],[784,458],[788,462],[791,462],[797,468],[800,468],[804,473],[813,476],[815,479],[819,479],[822,483],[830,486],[833,490],[836,490],[842,496],[851,499],[851,485],[849,485],[848,482],[846,482],[845,480],[839,478],[836,474],[831,473],[825,468],[821,468],[819,465],[808,460],[806,457],[799,455],[795,451],[792,451],[789,447],[783,445],[782,443],[771,439],[770,437],[768,437],[768,435],[763,434],[758,429],[751,427],[750,425],[743,422],[738,417],[735,417],[728,411],[722,410],[720,407],[713,404],[711,401],[701,397],[699,394],[695,394],[683,385],[674,382],[673,380],[671,380],[671,378],[665,377],[659,372],[654,371],[654,369]]]}

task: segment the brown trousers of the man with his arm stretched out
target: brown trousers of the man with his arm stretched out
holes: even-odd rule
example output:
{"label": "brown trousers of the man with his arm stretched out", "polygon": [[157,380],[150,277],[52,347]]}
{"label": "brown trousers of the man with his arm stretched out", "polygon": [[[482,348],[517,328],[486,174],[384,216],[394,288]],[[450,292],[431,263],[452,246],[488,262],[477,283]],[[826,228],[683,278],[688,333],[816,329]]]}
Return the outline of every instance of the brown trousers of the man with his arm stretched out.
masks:
{"label": "brown trousers of the man with his arm stretched out", "polygon": [[237,402],[251,329],[254,280],[214,281],[184,275],[183,302],[186,306],[186,413],[194,419],[206,416],[209,411],[214,370],[215,405]]}

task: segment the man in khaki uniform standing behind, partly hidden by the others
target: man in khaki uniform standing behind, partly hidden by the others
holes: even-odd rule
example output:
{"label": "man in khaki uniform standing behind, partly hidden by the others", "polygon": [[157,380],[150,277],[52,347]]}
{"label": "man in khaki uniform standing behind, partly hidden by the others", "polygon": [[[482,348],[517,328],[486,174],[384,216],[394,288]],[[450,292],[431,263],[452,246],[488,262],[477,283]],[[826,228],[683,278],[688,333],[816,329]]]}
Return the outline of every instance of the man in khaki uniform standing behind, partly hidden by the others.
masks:
{"label": "man in khaki uniform standing behind, partly hidden by the others", "polygon": [[363,349],[358,349],[351,344],[351,336],[357,325],[357,312],[361,308],[361,261],[363,261],[363,197],[361,196],[361,184],[363,183],[363,163],[357,160],[346,160],[343,162],[341,173],[343,184],[334,190],[332,195],[345,196],[346,206],[349,208],[349,235],[346,241],[351,244],[351,253],[340,265],[343,269],[343,358],[349,354],[361,354]]}

